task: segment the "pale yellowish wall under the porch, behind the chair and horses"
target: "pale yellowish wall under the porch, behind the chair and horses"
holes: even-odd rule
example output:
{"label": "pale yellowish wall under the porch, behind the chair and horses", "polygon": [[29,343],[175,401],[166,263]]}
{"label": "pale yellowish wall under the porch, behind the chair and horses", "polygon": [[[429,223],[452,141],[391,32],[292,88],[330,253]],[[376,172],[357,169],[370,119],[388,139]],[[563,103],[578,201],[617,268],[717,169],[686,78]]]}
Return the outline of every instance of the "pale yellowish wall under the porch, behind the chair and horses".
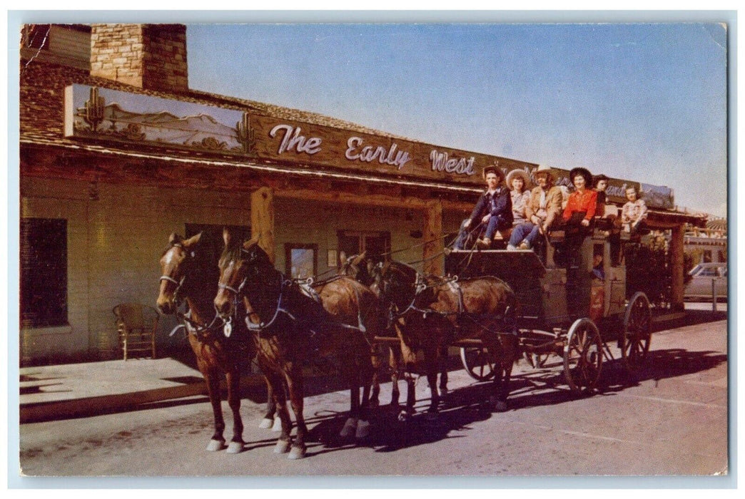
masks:
{"label": "pale yellowish wall under the porch, behind the chair and horses", "polygon": [[[250,225],[250,194],[108,184],[93,190],[96,200],[87,182],[22,179],[22,217],[68,220],[69,279],[69,325],[22,330],[22,363],[117,356],[112,308],[121,302],[154,305],[158,261],[171,232],[184,235],[186,223]],[[318,272],[326,273],[327,250],[337,249],[340,229],[388,231],[392,249],[402,249],[394,259],[422,258],[422,238],[410,235],[422,229],[422,212],[283,197],[275,210],[276,267],[282,271],[285,243],[298,243],[317,244]],[[458,220],[460,214],[448,214],[444,230],[453,230],[453,223],[457,228]],[[183,337],[168,336],[174,325],[173,317],[162,317],[160,349],[186,346]]]}

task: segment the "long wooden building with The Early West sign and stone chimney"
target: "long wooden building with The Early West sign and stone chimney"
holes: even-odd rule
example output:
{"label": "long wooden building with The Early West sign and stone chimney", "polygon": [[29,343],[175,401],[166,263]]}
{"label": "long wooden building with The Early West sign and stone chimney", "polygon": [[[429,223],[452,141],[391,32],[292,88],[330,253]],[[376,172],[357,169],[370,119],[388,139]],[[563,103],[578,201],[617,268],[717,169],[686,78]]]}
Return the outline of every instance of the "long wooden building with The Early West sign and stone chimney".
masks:
{"label": "long wooden building with The Early West sign and stone chimney", "polygon": [[[244,227],[294,276],[329,275],[340,252],[364,249],[441,273],[482,168],[538,166],[191,90],[183,25],[22,35],[22,363],[116,355],[112,308],[154,303],[171,232]],[[651,210],[680,231],[681,265],[686,222],[703,223]]]}

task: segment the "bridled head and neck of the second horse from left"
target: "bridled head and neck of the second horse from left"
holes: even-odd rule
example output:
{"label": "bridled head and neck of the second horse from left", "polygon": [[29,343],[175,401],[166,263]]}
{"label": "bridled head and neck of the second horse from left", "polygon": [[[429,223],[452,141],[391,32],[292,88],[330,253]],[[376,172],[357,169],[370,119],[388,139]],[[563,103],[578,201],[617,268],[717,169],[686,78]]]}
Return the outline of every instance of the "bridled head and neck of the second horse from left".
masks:
{"label": "bridled head and neck of the second horse from left", "polygon": [[276,279],[277,271],[269,255],[259,246],[259,236],[241,243],[229,229],[224,229],[223,241],[225,249],[220,257],[215,308],[225,317],[232,314],[233,305],[243,296],[247,284],[257,287],[269,285]]}

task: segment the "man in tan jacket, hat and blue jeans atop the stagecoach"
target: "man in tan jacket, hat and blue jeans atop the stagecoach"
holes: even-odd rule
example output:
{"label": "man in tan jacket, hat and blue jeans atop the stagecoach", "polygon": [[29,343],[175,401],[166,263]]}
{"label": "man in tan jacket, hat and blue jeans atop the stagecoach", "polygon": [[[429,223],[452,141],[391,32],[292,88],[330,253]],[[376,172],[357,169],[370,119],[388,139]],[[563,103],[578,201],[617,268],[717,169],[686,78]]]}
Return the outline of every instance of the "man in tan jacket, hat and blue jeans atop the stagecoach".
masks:
{"label": "man in tan jacket, hat and blue jeans atop the stagecoach", "polygon": [[561,190],[554,185],[554,172],[546,165],[540,165],[533,173],[537,187],[530,191],[530,201],[525,206],[527,222],[513,229],[507,249],[530,249],[535,246],[539,235],[546,233],[561,213]]}

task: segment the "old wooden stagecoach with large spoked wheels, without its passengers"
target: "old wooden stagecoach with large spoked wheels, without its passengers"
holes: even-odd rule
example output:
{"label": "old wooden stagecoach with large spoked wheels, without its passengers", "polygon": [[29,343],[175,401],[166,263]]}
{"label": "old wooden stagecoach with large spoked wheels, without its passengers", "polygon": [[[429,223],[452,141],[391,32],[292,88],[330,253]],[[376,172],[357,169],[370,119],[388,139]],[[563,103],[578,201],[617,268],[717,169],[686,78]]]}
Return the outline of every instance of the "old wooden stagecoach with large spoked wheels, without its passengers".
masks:
{"label": "old wooden stagecoach with large spoked wheels, without its passengers", "polygon": [[[507,282],[516,293],[515,326],[525,359],[533,367],[562,366],[571,390],[586,392],[597,385],[603,358],[614,358],[609,342],[616,342],[630,372],[644,363],[650,302],[641,292],[627,298],[626,268],[608,232],[595,229],[573,254],[559,258],[565,244],[565,234],[555,231],[539,252],[452,250],[446,273]],[[495,355],[478,342],[460,345],[460,358],[478,381],[495,375]]]}

